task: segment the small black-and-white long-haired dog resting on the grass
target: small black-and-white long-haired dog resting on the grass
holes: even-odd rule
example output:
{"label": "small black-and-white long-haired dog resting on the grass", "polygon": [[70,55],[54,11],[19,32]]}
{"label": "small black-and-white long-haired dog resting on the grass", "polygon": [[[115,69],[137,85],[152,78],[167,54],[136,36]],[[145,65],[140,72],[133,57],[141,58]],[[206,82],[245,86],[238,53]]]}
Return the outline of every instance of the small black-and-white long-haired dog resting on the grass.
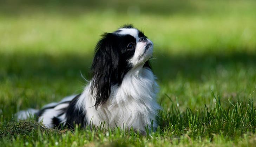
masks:
{"label": "small black-and-white long-haired dog resting on the grass", "polygon": [[48,128],[105,122],[108,127],[133,127],[145,133],[147,125],[149,129],[151,125],[157,127],[160,109],[156,102],[158,85],[149,64],[152,53],[152,41],[132,25],[104,33],[95,48],[92,79],[81,94],[40,110],[20,111],[17,117],[21,120],[36,115]]}

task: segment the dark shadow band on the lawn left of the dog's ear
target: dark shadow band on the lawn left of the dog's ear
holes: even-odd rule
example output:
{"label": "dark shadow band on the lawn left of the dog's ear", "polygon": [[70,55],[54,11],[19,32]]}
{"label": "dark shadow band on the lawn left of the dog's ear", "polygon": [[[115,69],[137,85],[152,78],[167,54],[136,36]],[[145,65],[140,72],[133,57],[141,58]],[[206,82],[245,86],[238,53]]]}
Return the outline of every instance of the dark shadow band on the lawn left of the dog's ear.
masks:
{"label": "dark shadow band on the lawn left of the dog's ear", "polygon": [[91,56],[79,54],[1,54],[0,78],[4,76],[18,76],[29,78],[31,76],[44,76],[54,78],[74,78],[88,73],[91,66]]}

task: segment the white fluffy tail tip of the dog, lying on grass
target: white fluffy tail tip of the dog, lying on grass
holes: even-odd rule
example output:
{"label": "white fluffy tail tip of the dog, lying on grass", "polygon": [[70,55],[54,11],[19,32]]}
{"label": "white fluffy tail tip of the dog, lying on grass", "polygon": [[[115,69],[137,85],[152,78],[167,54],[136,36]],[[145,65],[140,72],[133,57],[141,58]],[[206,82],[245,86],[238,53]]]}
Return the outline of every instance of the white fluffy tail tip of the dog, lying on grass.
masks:
{"label": "white fluffy tail tip of the dog, lying on grass", "polygon": [[26,120],[28,118],[34,118],[35,115],[39,112],[38,109],[27,109],[17,112],[14,116],[17,118],[18,121],[20,120]]}

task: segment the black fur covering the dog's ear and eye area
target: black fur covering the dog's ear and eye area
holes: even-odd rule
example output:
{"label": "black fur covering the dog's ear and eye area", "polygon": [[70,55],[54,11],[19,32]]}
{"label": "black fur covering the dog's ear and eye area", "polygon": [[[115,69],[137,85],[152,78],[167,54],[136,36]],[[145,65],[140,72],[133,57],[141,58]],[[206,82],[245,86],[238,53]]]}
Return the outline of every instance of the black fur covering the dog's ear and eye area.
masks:
{"label": "black fur covering the dog's ear and eye area", "polygon": [[136,39],[131,35],[105,33],[96,45],[91,67],[91,92],[95,95],[96,109],[109,98],[111,85],[120,85],[125,74],[132,68],[128,60],[134,55],[135,46],[127,49],[131,42],[136,45]]}

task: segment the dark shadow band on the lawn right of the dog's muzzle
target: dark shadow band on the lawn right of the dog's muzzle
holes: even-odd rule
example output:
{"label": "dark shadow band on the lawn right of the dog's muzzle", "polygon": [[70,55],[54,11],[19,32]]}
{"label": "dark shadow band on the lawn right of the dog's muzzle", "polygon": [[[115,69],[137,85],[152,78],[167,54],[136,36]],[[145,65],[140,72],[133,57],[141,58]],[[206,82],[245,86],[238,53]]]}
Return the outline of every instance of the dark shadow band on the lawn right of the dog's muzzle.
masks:
{"label": "dark shadow band on the lawn right of the dog's muzzle", "polygon": [[157,55],[152,61],[153,70],[162,82],[176,79],[177,76],[188,80],[201,80],[202,76],[218,74],[216,70],[256,68],[256,54],[234,52],[229,54],[201,54],[184,56]]}

